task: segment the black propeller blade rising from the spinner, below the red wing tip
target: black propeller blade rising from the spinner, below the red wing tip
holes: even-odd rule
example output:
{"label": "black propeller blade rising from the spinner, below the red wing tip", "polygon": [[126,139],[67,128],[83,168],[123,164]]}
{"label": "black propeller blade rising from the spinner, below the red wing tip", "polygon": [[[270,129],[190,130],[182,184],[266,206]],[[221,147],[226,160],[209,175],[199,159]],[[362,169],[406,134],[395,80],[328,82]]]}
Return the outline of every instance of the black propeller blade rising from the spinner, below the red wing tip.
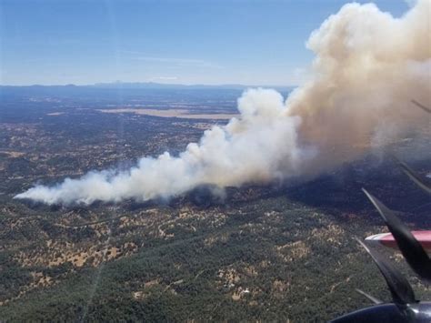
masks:
{"label": "black propeller blade rising from the spinner, below the red wing tip", "polygon": [[386,280],[392,299],[397,305],[416,303],[415,293],[407,279],[391,263],[386,261],[376,250],[371,250],[364,242],[356,237],[357,242],[366,249],[366,252],[373,258],[378,269]]}

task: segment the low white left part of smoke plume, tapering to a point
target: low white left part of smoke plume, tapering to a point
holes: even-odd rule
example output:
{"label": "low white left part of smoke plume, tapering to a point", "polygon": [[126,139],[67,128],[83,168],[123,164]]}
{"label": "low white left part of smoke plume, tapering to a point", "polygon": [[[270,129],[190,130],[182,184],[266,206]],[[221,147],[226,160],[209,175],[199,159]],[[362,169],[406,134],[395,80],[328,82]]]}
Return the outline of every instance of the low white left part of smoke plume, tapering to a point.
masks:
{"label": "low white left part of smoke plume, tapering to a point", "polygon": [[166,152],[145,157],[125,172],[90,172],[79,179],[67,178],[56,187],[31,188],[17,197],[48,204],[147,200],[175,196],[203,184],[235,186],[295,171],[302,158],[296,145],[300,119],[285,116],[282,96],[274,90],[249,90],[238,107],[240,119],[205,131],[200,143],[189,144],[180,156]]}

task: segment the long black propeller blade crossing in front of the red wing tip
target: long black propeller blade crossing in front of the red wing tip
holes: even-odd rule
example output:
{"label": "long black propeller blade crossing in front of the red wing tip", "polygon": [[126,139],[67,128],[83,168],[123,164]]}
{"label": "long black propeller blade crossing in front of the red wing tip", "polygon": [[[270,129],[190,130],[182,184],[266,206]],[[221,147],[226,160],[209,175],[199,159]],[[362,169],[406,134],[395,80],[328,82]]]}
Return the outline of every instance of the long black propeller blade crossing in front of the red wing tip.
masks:
{"label": "long black propeller blade crossing in front of the red wing tip", "polygon": [[410,265],[421,278],[431,281],[431,259],[416,240],[416,237],[412,235],[408,227],[396,217],[391,209],[386,207],[376,197],[369,194],[366,189],[363,188],[362,190],[366,193],[366,197],[369,198],[371,203],[374,204],[380,216],[385,220],[386,226],[396,239],[398,248],[406,258],[408,265]]}

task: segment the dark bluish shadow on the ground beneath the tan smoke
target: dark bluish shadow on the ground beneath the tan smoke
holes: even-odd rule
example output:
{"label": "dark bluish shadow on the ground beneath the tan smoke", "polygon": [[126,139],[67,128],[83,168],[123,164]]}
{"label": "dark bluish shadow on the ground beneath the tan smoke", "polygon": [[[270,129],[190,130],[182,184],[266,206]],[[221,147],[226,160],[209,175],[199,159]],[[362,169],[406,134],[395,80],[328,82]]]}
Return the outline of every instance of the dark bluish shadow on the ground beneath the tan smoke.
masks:
{"label": "dark bluish shadow on the ground beneath the tan smoke", "polygon": [[[426,171],[431,161],[416,160],[410,165]],[[429,207],[426,207],[431,202],[429,196],[420,191],[389,156],[383,159],[366,156],[306,183],[286,187],[285,193],[289,198],[324,209],[338,218],[360,214],[371,220],[378,219],[376,210],[361,191],[362,187],[400,211],[406,221],[431,227],[431,220],[425,217],[429,215]]]}

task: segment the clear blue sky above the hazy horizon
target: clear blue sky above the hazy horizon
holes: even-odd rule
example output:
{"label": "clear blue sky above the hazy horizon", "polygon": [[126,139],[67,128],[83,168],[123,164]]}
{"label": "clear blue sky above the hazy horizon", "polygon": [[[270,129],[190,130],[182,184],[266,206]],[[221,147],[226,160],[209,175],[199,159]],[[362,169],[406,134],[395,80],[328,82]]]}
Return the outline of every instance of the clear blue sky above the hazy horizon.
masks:
{"label": "clear blue sky above the hazy horizon", "polygon": [[308,36],[348,2],[0,0],[0,84],[297,86],[313,59]]}

